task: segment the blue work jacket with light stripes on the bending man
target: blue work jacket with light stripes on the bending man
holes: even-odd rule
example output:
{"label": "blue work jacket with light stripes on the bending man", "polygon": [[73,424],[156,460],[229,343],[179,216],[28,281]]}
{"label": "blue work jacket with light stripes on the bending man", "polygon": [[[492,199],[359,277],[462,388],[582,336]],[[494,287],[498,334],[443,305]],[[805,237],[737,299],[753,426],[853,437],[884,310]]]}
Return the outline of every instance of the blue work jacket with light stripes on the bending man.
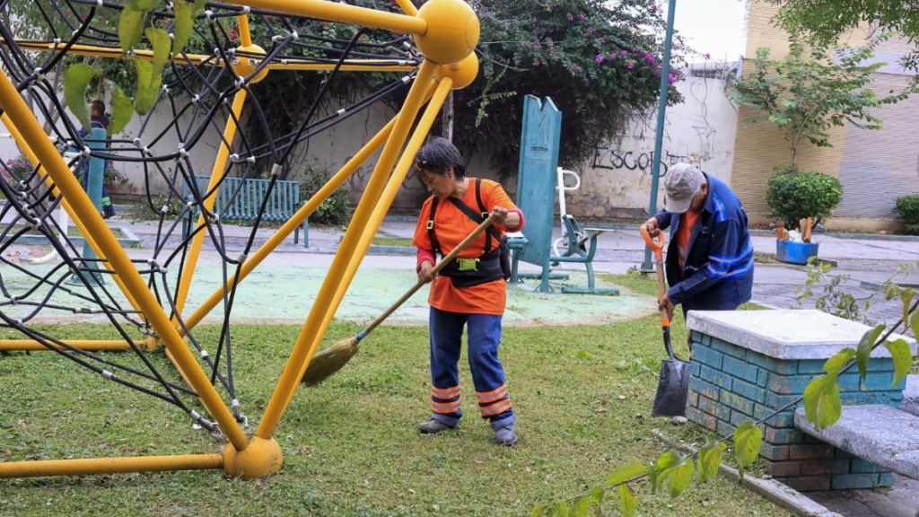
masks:
{"label": "blue work jacket with light stripes on the bending man", "polygon": [[673,304],[691,310],[734,310],[753,296],[753,243],[741,201],[720,181],[706,175],[709,195],[689,237],[686,264],[679,265],[675,236],[679,213],[654,214],[662,230],[670,228],[665,270]]}

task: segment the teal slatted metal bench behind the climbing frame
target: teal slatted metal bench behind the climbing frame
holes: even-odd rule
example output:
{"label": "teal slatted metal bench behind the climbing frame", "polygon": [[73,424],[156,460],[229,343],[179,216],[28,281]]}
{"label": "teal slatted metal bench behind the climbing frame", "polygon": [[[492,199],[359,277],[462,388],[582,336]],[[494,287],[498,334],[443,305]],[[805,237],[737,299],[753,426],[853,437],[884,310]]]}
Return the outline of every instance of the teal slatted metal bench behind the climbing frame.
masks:
{"label": "teal slatted metal bench behind the climbing frame", "polygon": [[[214,207],[211,212],[221,216],[221,221],[255,221],[258,211],[265,200],[268,191],[270,179],[244,179],[244,178],[223,178],[220,187],[213,194]],[[195,182],[198,183],[198,189],[201,195],[207,194],[210,176],[196,176]],[[194,200],[191,190],[188,189],[187,183],[184,185],[182,195],[186,200]],[[300,183],[297,181],[278,180],[268,196],[268,203],[265,207],[265,214],[262,221],[272,223],[286,223],[298,210],[300,210]],[[200,211],[194,211],[194,217],[197,220]],[[182,225],[182,238],[187,237],[189,218],[191,213],[186,215],[186,223]],[[309,236],[307,234],[308,221],[303,221],[303,247],[309,245]],[[300,226],[294,231],[293,243],[300,241]]]}

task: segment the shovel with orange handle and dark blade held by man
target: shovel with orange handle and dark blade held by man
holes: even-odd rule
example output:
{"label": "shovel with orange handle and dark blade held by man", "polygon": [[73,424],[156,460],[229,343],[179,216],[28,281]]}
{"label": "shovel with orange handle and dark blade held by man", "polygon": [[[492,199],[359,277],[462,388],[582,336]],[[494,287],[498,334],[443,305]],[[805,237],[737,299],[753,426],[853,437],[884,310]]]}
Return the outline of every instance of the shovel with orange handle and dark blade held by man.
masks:
{"label": "shovel with orange handle and dark blade held by man", "polygon": [[[641,225],[641,236],[644,242],[654,252],[657,268],[657,294],[658,299],[664,298],[664,232],[658,234],[660,243],[654,242],[648,234],[648,228]],[[661,309],[661,327],[664,331],[664,349],[670,359],[661,362],[661,381],[657,385],[657,395],[654,396],[654,407],[651,410],[653,417],[685,417],[686,396],[689,394],[689,363],[681,361],[674,355],[670,346],[670,318],[666,309]]]}

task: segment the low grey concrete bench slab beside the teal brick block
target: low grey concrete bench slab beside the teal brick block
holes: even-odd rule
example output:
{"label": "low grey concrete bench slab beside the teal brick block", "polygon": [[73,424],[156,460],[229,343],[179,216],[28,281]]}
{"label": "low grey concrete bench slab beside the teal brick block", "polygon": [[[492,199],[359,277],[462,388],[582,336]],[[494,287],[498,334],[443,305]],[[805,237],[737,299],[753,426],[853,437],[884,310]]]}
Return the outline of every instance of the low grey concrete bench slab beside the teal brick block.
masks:
{"label": "low grey concrete bench slab beside the teal brick block", "polygon": [[816,431],[800,408],[795,410],[795,427],[875,465],[919,479],[919,417],[900,409],[845,406],[838,422]]}

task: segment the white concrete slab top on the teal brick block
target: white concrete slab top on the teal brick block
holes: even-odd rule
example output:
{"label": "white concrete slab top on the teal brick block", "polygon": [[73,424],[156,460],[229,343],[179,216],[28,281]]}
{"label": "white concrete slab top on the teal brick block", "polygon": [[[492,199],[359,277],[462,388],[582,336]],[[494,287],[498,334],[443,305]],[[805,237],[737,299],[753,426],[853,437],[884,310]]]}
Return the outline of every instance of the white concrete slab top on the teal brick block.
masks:
{"label": "white concrete slab top on the teal brick block", "polygon": [[[829,359],[845,348],[857,348],[870,327],[821,311],[690,311],[686,326],[779,360]],[[916,341],[906,339],[915,356]],[[872,357],[891,357],[881,347]]]}

